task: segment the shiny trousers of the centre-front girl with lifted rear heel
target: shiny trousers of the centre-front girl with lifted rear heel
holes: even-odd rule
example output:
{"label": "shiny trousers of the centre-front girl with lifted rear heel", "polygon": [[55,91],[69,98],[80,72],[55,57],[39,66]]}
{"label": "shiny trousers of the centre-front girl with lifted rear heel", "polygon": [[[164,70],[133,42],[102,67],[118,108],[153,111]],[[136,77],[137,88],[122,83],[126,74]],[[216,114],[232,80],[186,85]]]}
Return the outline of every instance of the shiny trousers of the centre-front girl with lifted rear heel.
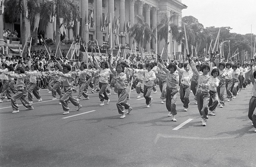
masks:
{"label": "shiny trousers of the centre-front girl with lifted rear heel", "polygon": [[118,89],[118,100],[116,102],[116,107],[118,109],[119,114],[125,113],[124,109],[130,108],[130,104],[127,103],[127,90],[126,89]]}

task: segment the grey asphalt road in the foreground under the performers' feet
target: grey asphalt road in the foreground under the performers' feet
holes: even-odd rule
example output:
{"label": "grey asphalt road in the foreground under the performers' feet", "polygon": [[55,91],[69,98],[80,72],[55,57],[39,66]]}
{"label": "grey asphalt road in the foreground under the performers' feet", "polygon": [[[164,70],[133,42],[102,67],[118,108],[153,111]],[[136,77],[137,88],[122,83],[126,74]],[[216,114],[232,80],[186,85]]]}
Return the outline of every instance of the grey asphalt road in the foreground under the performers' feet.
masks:
{"label": "grey asphalt road in the foreground under the performers' feet", "polygon": [[[251,89],[242,90],[224,108],[218,106],[205,127],[192,93],[187,112],[178,97],[173,122],[160,104],[159,87],[150,108],[131,92],[133,110],[124,119],[116,109],[117,95],[100,107],[98,94],[91,94],[80,101],[80,111],[72,111],[76,107],[69,103],[70,114],[62,115],[58,100],[51,101],[43,89],[43,101],[34,99],[34,110],[20,106],[13,114],[10,102],[0,104],[0,166],[255,167],[256,133],[247,116]],[[64,119],[68,116],[73,117]]]}

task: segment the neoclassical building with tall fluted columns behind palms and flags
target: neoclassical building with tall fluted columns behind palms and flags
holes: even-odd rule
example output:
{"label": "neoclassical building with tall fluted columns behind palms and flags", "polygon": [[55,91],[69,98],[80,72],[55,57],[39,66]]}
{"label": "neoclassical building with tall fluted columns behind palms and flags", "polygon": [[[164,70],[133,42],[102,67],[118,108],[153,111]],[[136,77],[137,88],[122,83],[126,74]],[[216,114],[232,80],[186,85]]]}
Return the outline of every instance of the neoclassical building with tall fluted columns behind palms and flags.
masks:
{"label": "neoclassical building with tall fluted columns behind palms and flags", "polygon": [[[44,0],[41,0],[44,2]],[[108,19],[110,20],[110,15],[113,19],[120,18],[120,26],[118,30],[116,30],[116,35],[118,36],[121,32],[124,31],[124,25],[126,27],[126,23],[130,22],[131,27],[136,23],[135,15],[143,15],[145,22],[150,25],[150,27],[154,27],[159,23],[161,20],[161,16],[163,12],[167,13],[168,15],[174,15],[172,22],[176,25],[181,26],[181,17],[182,17],[182,9],[187,8],[181,0],[74,0],[77,4],[80,17],[87,18],[87,23],[83,23],[84,27],[82,32],[79,34],[79,25],[81,23],[70,23],[74,24],[72,28],[70,26],[62,26],[61,27],[61,37],[72,38],[73,36],[80,35],[84,41],[88,41],[89,39],[94,39],[98,41],[99,45],[102,45],[103,41],[109,41],[114,43],[115,34],[113,31],[111,32],[112,35],[109,36],[109,27],[106,27],[105,30],[102,31],[102,20],[104,21],[105,16],[108,14]],[[88,16],[91,15],[93,10],[93,21],[94,25],[88,25]],[[8,23],[5,20],[6,17],[3,16],[3,28],[10,29],[10,30],[17,30],[20,32],[20,22],[17,21],[16,23]],[[55,18],[56,19],[56,18]],[[1,20],[0,20],[1,21]],[[39,26],[40,27],[40,21]],[[56,20],[53,23],[50,23],[47,28],[40,29],[38,28],[38,35],[41,34],[44,38],[55,38]],[[87,29],[87,27],[89,28]],[[80,30],[81,31],[81,30]],[[28,32],[29,34],[29,32]],[[112,39],[110,39],[112,37]],[[122,39],[120,37],[120,43],[129,43],[130,46],[134,43],[132,38],[129,38],[127,34],[126,37]],[[117,40],[115,41],[117,43]],[[162,42],[162,43],[161,43]],[[164,46],[164,41],[161,41],[158,48],[156,48],[155,39],[152,38],[150,43],[143,43],[147,51],[150,49],[158,49],[158,52],[162,51]],[[175,48],[176,52],[181,52],[181,46],[174,47],[174,42],[171,39],[171,35],[168,38],[168,42],[170,43],[168,46],[172,47],[172,51]],[[168,48],[168,52],[171,49]]]}

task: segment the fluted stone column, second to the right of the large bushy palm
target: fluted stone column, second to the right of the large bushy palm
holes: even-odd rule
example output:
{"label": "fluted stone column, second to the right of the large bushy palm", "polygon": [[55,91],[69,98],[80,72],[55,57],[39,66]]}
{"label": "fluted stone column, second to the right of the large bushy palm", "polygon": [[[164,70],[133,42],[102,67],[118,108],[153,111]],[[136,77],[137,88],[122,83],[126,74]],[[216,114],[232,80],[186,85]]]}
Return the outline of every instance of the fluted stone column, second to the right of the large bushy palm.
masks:
{"label": "fluted stone column, second to the right of the large bushy palm", "polygon": [[102,19],[102,0],[96,0],[96,39],[99,46],[102,45],[102,31],[101,31],[101,19]]}

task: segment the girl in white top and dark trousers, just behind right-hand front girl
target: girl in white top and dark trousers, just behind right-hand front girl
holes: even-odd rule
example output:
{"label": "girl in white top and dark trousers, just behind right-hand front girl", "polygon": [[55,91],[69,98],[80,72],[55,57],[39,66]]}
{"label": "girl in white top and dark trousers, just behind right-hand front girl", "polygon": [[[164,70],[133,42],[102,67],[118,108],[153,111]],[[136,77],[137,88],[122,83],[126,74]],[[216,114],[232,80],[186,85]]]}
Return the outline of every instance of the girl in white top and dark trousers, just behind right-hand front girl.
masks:
{"label": "girl in white top and dark trousers, just behind right-hand front girl", "polygon": [[211,84],[209,86],[209,94],[210,94],[210,100],[209,100],[209,115],[215,115],[215,109],[218,106],[218,94],[217,94],[217,87],[219,86],[220,80],[217,78],[219,76],[219,70],[218,69],[212,69],[211,71]]}

